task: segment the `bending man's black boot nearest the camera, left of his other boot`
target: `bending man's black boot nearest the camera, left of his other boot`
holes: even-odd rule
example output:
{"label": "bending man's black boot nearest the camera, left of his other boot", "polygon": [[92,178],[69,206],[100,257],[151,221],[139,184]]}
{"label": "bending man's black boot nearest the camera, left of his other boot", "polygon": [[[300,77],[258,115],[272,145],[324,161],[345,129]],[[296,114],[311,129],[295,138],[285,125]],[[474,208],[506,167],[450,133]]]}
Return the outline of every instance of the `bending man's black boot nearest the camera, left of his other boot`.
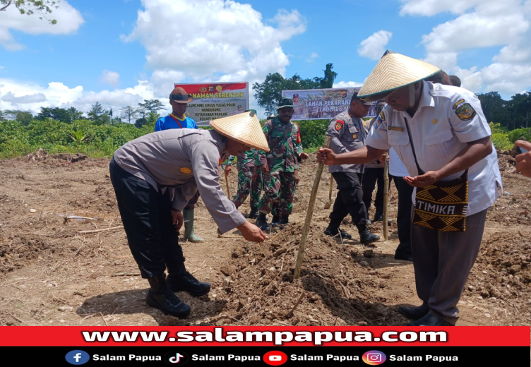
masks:
{"label": "bending man's black boot nearest the camera, left of his other boot", "polygon": [[160,309],[166,315],[176,318],[187,318],[190,315],[190,306],[182,303],[166,283],[166,274],[162,273],[156,277],[148,278],[150,290],[145,301],[149,306]]}

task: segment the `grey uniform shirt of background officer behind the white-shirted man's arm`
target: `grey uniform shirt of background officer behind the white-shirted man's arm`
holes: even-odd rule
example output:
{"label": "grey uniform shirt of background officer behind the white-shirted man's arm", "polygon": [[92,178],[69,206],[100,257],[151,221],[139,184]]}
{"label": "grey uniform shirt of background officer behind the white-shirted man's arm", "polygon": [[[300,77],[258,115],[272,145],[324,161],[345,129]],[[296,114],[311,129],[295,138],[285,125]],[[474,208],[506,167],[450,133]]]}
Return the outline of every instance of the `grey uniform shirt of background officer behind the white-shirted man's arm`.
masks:
{"label": "grey uniform shirt of background officer behind the white-shirted man's arm", "polygon": [[[363,148],[365,145],[366,132],[363,127],[362,119],[352,119],[348,111],[341,112],[328,124],[326,136],[330,136],[329,148],[338,153],[352,152]],[[362,174],[364,171],[363,164],[341,164],[339,166],[329,166],[328,172],[351,172]]]}

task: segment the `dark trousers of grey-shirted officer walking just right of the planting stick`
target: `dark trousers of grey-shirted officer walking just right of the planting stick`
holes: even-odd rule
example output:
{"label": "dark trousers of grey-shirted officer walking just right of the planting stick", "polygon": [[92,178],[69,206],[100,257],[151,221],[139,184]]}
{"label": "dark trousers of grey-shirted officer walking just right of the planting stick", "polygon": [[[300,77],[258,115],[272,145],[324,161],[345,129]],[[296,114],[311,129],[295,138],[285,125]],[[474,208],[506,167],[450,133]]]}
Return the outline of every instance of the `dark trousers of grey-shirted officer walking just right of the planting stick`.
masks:
{"label": "dark trousers of grey-shirted officer walking just right of the planting stick", "polygon": [[359,231],[366,228],[367,211],[363,203],[362,176],[351,172],[334,172],[332,176],[338,183],[338,197],[330,213],[330,228],[339,228],[341,222],[350,214],[352,222]]}

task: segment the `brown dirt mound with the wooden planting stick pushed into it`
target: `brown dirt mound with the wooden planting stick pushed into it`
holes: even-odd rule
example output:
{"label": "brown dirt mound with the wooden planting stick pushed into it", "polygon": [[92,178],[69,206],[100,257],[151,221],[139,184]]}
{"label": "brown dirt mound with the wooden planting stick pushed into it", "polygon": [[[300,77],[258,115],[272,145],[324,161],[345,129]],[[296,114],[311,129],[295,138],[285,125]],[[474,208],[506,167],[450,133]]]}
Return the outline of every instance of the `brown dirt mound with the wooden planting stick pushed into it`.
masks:
{"label": "brown dirt mound with the wooden planting stick pushed into it", "polygon": [[244,325],[402,325],[405,319],[375,291],[385,288],[389,277],[371,264],[385,255],[371,249],[359,253],[312,227],[297,280],[300,224],[232,252],[218,290],[236,308],[234,319]]}

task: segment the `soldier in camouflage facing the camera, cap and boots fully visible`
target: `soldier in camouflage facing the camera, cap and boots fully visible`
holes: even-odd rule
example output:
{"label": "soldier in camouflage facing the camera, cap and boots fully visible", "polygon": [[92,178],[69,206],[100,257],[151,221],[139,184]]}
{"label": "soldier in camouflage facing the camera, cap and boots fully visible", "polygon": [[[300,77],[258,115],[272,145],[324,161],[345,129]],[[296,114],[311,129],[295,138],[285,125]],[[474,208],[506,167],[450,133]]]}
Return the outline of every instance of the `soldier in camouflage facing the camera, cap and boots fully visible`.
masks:
{"label": "soldier in camouflage facing the camera, cap and boots fully visible", "polygon": [[264,175],[264,194],[258,204],[256,225],[269,230],[266,215],[275,206],[273,224],[287,224],[293,210],[295,186],[299,181],[299,161],[308,155],[302,152],[299,126],[290,122],[293,116],[293,100],[282,97],[278,102],[278,115],[263,124],[270,151],[258,151],[256,165]]}

